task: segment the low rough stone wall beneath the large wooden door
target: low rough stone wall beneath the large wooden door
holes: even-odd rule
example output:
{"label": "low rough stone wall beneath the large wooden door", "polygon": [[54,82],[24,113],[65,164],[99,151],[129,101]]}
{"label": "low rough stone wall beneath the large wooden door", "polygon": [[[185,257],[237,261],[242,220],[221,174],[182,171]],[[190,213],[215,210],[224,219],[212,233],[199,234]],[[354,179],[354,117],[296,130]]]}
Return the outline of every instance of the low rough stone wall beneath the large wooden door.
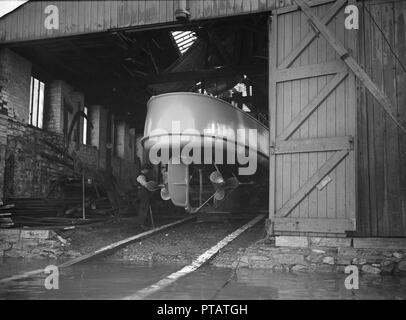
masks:
{"label": "low rough stone wall beneath the large wooden door", "polygon": [[349,265],[364,274],[406,275],[406,250],[354,248],[350,238],[282,236],[248,247],[239,260],[239,267],[291,272],[344,272]]}

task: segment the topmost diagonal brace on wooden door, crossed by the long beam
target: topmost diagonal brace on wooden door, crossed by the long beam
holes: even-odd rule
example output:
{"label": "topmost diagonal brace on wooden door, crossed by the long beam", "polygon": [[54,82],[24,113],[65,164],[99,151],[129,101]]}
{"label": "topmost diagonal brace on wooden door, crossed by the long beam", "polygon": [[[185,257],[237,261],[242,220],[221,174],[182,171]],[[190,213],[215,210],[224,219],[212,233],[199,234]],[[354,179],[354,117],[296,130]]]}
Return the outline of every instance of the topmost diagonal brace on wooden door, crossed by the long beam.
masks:
{"label": "topmost diagonal brace on wooden door, crossed by the long beam", "polygon": [[[347,0],[338,0],[334,5],[331,6],[330,10],[321,20],[322,23],[328,24],[340,11],[340,9],[347,3]],[[279,69],[289,68],[296,58],[310,45],[310,43],[318,36],[318,33],[315,33],[314,30],[310,31],[293,49],[293,51],[282,61],[279,65]]]}

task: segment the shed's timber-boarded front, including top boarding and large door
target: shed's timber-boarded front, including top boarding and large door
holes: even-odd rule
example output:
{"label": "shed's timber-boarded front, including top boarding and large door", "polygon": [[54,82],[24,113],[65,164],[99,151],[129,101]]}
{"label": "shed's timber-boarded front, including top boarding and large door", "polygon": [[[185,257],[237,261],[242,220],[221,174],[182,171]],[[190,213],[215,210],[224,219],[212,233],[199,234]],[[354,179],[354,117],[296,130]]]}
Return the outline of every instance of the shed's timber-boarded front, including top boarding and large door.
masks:
{"label": "shed's timber-boarded front, including top boarding and large door", "polygon": [[0,46],[257,14],[269,16],[268,232],[406,236],[406,1],[29,1],[0,19]]}

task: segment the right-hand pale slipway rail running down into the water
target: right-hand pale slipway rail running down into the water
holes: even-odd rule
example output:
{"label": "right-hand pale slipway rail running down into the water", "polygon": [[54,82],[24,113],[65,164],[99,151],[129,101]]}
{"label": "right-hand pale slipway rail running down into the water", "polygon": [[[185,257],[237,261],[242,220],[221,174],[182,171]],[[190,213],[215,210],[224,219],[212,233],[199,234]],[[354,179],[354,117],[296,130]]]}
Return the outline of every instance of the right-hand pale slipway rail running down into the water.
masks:
{"label": "right-hand pale slipway rail running down into the water", "polygon": [[251,221],[249,221],[242,227],[240,227],[237,230],[235,230],[234,232],[230,233],[228,236],[226,236],[216,245],[211,247],[209,250],[205,251],[203,254],[201,254],[199,257],[197,257],[195,260],[193,260],[193,262],[191,264],[183,267],[179,271],[176,271],[176,272],[170,274],[169,276],[163,278],[162,280],[158,281],[157,283],[154,283],[144,289],[141,289],[132,295],[126,296],[124,298],[124,300],[145,299],[145,298],[149,297],[150,295],[175,283],[177,280],[183,278],[184,276],[188,275],[189,273],[196,271],[201,266],[203,266],[206,262],[208,262],[211,258],[213,258],[222,248],[224,248],[231,241],[233,241],[238,236],[240,236],[243,232],[245,232],[248,229],[255,226],[258,222],[260,222],[264,218],[265,218],[265,216],[262,214],[255,217],[254,219],[252,219]]}

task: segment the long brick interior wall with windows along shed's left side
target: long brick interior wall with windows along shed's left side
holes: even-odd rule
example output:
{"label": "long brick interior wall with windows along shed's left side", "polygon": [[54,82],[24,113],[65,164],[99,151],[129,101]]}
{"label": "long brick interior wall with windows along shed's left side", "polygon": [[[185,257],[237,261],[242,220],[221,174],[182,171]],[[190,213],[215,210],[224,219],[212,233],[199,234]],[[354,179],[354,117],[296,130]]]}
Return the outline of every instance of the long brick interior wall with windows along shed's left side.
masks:
{"label": "long brick interior wall with windows along shed's left side", "polygon": [[[63,149],[64,116],[68,128],[77,110],[84,105],[84,94],[77,92],[63,80],[46,83],[44,130],[27,124],[29,118],[31,63],[9,49],[0,50],[0,200],[6,197],[43,197],[51,183],[68,173],[52,157],[61,157],[51,146]],[[6,106],[7,108],[3,108]],[[64,112],[64,106],[69,112]],[[98,105],[89,107],[93,124],[91,145],[83,145],[83,118],[80,133],[73,131],[70,152],[90,169],[106,168],[107,109]],[[122,125],[121,157],[112,158],[113,174],[124,190],[132,188],[131,177],[137,172],[134,161],[135,137],[130,135],[127,123]],[[76,141],[79,141],[77,144]],[[51,158],[51,159],[50,159]]]}

